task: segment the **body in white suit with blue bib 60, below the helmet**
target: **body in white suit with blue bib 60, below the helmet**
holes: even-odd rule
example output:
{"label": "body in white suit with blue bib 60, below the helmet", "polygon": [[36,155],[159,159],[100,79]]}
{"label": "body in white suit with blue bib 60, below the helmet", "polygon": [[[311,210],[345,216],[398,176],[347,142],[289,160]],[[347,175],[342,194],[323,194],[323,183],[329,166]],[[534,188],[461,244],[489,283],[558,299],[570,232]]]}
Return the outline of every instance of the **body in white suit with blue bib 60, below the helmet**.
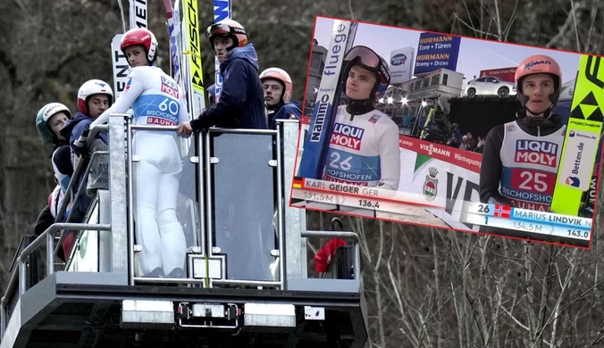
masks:
{"label": "body in white suit with blue bib 60, below the helmet", "polygon": [[[189,120],[181,97],[174,79],[160,68],[132,68],[122,95],[90,128],[104,123],[110,113],[124,113],[130,107],[138,125],[176,126]],[[139,158],[134,163],[136,236],[143,247],[140,267],[147,277],[184,276],[187,245],[176,216],[182,163],[175,135],[137,130],[133,137],[132,153]]]}

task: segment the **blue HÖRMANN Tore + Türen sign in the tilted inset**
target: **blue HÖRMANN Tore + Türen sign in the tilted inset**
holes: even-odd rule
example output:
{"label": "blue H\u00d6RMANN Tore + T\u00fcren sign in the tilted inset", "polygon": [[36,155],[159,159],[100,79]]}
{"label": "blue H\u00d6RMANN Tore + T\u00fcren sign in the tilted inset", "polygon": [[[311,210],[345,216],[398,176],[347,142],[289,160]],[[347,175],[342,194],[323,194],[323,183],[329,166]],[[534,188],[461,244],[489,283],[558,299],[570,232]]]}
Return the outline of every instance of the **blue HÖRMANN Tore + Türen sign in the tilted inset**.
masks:
{"label": "blue H\u00d6RMANN Tore + T\u00fcren sign in the tilted inset", "polygon": [[452,35],[422,33],[417,44],[414,75],[439,69],[457,69],[459,43],[461,37]]}

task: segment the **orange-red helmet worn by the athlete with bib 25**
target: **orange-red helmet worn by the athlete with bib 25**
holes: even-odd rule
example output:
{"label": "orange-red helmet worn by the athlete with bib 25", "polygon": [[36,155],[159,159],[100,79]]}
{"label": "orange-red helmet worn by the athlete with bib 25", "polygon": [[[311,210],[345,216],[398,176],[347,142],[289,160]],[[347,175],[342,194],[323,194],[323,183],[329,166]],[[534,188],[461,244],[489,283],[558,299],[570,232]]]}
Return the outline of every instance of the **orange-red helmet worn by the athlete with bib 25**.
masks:
{"label": "orange-red helmet worn by the athlete with bib 25", "polygon": [[532,55],[518,65],[516,68],[516,91],[520,104],[524,106],[528,102],[529,97],[522,94],[522,79],[525,76],[533,74],[549,74],[554,79],[554,93],[549,95],[549,101],[552,105],[558,102],[560,96],[560,88],[562,87],[562,70],[553,58],[548,55],[536,54]]}

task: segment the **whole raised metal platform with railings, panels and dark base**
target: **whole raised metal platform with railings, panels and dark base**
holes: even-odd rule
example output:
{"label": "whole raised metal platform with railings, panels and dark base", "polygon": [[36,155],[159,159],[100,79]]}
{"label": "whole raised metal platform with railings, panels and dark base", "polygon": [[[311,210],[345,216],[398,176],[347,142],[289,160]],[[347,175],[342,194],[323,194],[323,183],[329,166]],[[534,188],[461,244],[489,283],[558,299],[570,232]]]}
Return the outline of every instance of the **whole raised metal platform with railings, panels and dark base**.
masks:
{"label": "whole raised metal platform with railings, panels and dark base", "polygon": [[[132,138],[174,129],[134,125],[129,114],[91,129],[90,138],[107,131],[110,140],[78,163],[74,178],[88,181],[72,179],[68,188],[74,199],[92,198],[85,222],[68,218],[23,239],[2,297],[0,348],[362,347],[358,236],[308,231],[306,211],[286,206],[297,120],[281,120],[277,130],[210,128],[177,138],[186,269],[175,278],[142,274],[133,186],[144,183],[133,182]],[[70,234],[71,253],[59,261]],[[310,237],[348,241],[323,277],[308,276]]]}

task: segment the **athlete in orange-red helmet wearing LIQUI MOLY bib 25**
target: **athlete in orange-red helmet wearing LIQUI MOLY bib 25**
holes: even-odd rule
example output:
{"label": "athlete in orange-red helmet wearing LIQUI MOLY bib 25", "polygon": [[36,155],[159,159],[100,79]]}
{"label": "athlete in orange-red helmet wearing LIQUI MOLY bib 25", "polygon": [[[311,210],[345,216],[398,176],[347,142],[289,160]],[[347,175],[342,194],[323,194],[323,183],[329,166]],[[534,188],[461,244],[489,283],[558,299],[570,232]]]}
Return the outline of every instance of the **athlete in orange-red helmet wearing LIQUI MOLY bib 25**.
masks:
{"label": "athlete in orange-red helmet wearing LIQUI MOLY bib 25", "polygon": [[549,56],[533,55],[516,70],[518,120],[492,128],[480,176],[482,203],[549,211],[566,125],[551,113],[562,72]]}

